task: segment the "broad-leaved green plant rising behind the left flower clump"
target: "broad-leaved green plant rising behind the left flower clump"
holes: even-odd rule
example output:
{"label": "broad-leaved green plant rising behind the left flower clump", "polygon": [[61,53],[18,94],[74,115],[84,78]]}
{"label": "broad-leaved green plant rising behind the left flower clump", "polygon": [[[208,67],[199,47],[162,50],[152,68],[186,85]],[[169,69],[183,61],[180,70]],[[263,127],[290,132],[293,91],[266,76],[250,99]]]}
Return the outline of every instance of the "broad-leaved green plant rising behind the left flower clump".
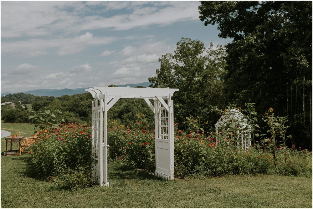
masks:
{"label": "broad-leaved green plant rising behind the left flower clump", "polygon": [[29,119],[36,124],[35,129],[39,126],[39,130],[48,130],[57,128],[61,121],[65,122],[64,119],[60,118],[60,114],[62,112],[59,110],[44,108],[42,111],[31,111],[28,115]]}

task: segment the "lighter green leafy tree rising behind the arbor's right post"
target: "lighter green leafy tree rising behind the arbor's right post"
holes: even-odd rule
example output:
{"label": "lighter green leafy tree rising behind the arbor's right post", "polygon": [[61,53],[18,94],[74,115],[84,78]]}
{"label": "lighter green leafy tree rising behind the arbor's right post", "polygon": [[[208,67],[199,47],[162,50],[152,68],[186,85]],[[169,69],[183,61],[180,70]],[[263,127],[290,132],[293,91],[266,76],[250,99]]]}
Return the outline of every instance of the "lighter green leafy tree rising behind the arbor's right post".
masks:
{"label": "lighter green leafy tree rising behind the arbor's right post", "polygon": [[150,77],[153,88],[177,88],[173,96],[176,120],[185,117],[201,117],[202,121],[214,121],[209,114],[210,105],[223,100],[222,81],[224,48],[213,45],[206,49],[199,40],[182,38],[176,44],[174,54],[165,54],[159,59],[160,69]]}

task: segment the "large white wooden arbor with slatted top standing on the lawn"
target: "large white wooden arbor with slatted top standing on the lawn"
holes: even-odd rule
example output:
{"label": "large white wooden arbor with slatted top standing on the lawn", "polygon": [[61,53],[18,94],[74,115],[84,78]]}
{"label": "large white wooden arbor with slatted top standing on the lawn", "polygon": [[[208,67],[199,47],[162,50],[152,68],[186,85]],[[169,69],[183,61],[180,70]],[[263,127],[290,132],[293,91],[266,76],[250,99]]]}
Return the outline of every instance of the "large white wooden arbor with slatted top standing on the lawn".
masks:
{"label": "large white wooden arbor with slatted top standing on the lawn", "polygon": [[[154,113],[156,176],[174,179],[174,114],[172,95],[179,89],[93,87],[86,89],[92,102],[93,176],[100,186],[108,182],[108,118],[107,112],[119,99],[144,99]],[[153,99],[154,105],[149,99]],[[164,100],[167,100],[165,102]]]}

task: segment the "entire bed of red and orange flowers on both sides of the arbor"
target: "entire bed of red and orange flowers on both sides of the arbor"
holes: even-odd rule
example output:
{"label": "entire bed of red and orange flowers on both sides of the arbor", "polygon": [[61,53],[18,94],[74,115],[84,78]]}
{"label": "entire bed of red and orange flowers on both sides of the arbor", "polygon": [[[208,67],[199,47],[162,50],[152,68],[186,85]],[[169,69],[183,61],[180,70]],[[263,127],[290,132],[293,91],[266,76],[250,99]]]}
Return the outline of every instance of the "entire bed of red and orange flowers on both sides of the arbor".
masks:
{"label": "entire bed of red and orange flowers on both sides of the arbor", "polygon": [[[199,118],[199,117],[198,117]],[[187,122],[193,118],[187,118]],[[124,126],[108,123],[109,157],[134,169],[155,170],[154,130],[145,122]],[[229,175],[312,176],[312,155],[308,150],[280,146],[275,152],[270,140],[243,150],[236,132],[208,133],[193,125],[189,131],[173,124],[175,177],[194,179]],[[193,128],[192,128],[193,127]],[[61,124],[40,130],[29,147],[31,166],[37,176],[55,182],[62,189],[79,189],[94,184],[91,176],[91,127]]]}

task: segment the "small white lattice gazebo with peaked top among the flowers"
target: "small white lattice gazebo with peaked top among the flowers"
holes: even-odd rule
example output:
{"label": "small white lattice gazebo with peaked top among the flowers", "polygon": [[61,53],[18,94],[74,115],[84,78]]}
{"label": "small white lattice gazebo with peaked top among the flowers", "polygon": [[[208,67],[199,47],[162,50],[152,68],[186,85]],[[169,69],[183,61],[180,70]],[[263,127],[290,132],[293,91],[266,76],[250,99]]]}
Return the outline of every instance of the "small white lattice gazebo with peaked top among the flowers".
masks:
{"label": "small white lattice gazebo with peaked top among the flowers", "polygon": [[[215,124],[215,131],[226,129],[225,131],[230,131],[227,127],[234,127],[238,125],[237,140],[238,147],[243,150],[248,150],[251,146],[251,126],[248,124],[248,120],[244,115],[237,109],[232,109],[222,115],[220,119]],[[221,139],[216,139],[221,140]]]}

